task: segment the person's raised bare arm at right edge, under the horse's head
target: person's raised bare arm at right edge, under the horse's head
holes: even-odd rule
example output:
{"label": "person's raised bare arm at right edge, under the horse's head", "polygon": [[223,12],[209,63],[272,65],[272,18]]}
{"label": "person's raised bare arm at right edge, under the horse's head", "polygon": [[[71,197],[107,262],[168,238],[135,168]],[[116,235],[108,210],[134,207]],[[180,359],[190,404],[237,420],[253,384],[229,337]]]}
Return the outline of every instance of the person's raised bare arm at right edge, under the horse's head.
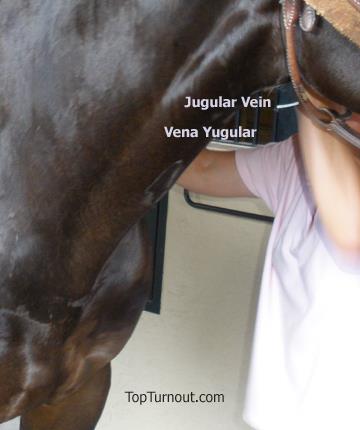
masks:
{"label": "person's raised bare arm at right edge, under the horse's head", "polygon": [[299,141],[321,223],[341,251],[360,255],[360,151],[298,112]]}

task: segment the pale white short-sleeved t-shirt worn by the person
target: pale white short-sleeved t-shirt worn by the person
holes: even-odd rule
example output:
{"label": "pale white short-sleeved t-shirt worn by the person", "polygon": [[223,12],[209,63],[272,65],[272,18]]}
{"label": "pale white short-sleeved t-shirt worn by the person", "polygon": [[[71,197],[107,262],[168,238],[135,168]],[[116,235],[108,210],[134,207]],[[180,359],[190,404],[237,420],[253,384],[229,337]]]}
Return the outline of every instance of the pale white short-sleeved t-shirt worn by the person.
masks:
{"label": "pale white short-sleeved t-shirt worn by the person", "polygon": [[236,164],[275,214],[244,419],[256,430],[360,430],[358,256],[327,240],[296,138],[239,150]]}

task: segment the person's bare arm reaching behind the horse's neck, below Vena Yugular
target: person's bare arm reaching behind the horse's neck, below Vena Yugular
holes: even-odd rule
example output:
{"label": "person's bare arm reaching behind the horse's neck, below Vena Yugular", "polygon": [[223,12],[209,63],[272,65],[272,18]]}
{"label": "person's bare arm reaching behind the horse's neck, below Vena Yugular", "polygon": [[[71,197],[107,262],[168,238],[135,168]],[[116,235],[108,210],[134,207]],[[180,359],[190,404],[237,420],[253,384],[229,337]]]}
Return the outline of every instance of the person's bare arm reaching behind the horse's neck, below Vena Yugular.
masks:
{"label": "person's bare arm reaching behind the horse's neck, below Vena Yugular", "polygon": [[234,151],[204,149],[177,183],[189,191],[214,197],[252,196],[236,169]]}

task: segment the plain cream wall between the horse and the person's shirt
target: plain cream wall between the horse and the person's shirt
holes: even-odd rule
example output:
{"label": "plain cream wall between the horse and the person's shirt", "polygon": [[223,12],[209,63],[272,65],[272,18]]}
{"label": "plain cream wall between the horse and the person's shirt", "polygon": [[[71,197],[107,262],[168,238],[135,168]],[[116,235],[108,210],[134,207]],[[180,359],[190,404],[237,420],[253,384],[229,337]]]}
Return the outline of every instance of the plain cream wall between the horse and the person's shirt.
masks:
{"label": "plain cream wall between the horse and the person's shirt", "polygon": [[[264,211],[255,199],[208,202]],[[97,430],[250,429],[241,411],[268,233],[262,222],[192,209],[182,189],[173,189],[161,315],[144,313],[113,362],[112,388]],[[148,390],[223,393],[225,403],[127,402],[125,391]]]}

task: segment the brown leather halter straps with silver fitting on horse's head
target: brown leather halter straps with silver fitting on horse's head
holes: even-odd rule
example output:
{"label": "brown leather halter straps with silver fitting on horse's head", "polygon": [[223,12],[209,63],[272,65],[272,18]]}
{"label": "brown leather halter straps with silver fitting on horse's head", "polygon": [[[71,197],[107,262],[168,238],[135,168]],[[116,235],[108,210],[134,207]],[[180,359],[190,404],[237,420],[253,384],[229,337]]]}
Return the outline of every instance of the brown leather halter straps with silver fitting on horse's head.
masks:
{"label": "brown leather halter straps with silver fitting on horse's head", "polygon": [[[345,122],[352,118],[353,113],[345,107],[342,112],[331,109],[329,106],[333,103],[307,84],[301,76],[296,56],[296,28],[299,23],[303,31],[312,31],[316,24],[316,12],[310,6],[305,6],[301,13],[302,0],[280,0],[280,3],[282,4],[289,73],[301,108],[313,122],[360,148],[360,134]],[[316,104],[313,103],[313,100],[316,101]]]}

